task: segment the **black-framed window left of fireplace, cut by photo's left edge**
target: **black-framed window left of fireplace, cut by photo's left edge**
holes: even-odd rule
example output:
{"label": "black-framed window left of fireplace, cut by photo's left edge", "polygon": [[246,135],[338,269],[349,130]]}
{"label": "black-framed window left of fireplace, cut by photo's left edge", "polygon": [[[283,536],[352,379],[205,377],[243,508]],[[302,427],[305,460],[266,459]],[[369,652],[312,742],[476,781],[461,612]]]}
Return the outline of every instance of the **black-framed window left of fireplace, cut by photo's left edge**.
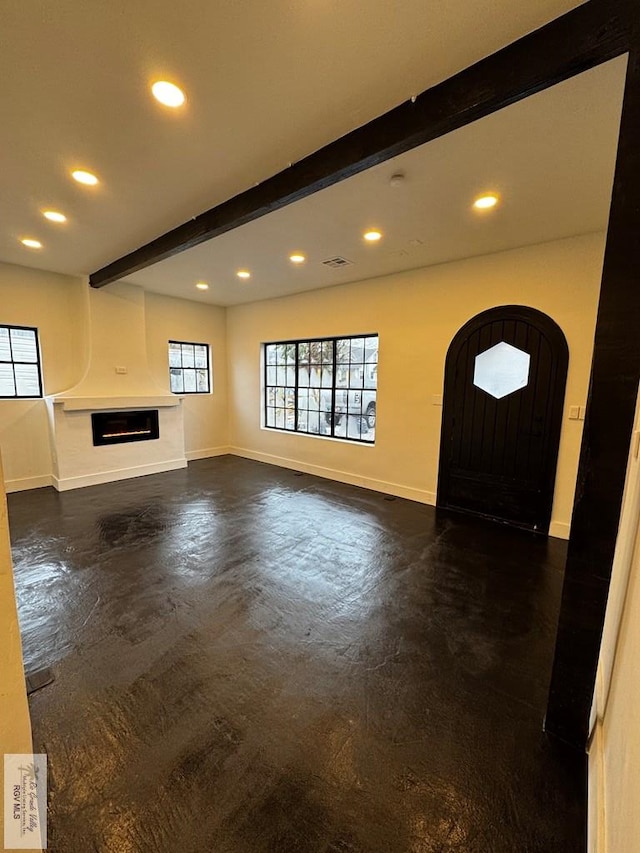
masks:
{"label": "black-framed window left of fireplace, cut by photo's left edge", "polygon": [[0,325],[0,398],[42,397],[38,330]]}

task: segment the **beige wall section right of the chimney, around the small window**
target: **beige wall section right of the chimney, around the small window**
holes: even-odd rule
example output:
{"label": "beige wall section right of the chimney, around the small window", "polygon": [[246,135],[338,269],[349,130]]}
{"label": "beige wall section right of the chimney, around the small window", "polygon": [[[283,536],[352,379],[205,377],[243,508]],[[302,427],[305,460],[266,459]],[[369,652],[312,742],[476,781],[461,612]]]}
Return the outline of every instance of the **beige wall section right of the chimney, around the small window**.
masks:
{"label": "beige wall section right of the chimney, around the small window", "polygon": [[146,294],[147,352],[155,381],[169,390],[167,341],[195,341],[211,347],[212,394],[185,397],[187,459],[224,453],[228,445],[227,344],[224,308]]}

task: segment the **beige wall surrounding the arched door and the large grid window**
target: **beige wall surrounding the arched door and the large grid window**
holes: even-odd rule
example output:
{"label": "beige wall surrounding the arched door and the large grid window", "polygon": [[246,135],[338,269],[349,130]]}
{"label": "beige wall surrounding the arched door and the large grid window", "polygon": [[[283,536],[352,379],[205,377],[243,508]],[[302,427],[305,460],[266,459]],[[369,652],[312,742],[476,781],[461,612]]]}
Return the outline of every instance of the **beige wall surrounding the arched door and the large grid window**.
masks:
{"label": "beige wall surrounding the arched door and the large grid window", "polygon": [[[433,503],[447,348],[471,317],[533,306],[569,344],[569,375],[551,532],[569,532],[602,271],[604,235],[561,240],[439,267],[227,309],[230,444],[234,452]],[[378,332],[375,446],[261,428],[260,345]]]}

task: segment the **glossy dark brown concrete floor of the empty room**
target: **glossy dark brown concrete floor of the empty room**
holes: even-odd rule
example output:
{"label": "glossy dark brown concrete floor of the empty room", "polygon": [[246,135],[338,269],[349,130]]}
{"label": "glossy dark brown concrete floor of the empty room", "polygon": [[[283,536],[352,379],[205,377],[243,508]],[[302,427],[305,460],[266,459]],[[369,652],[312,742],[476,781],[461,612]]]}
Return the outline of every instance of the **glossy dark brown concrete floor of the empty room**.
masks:
{"label": "glossy dark brown concrete floor of the empty room", "polygon": [[583,853],[563,543],[233,457],[9,506],[55,853]]}

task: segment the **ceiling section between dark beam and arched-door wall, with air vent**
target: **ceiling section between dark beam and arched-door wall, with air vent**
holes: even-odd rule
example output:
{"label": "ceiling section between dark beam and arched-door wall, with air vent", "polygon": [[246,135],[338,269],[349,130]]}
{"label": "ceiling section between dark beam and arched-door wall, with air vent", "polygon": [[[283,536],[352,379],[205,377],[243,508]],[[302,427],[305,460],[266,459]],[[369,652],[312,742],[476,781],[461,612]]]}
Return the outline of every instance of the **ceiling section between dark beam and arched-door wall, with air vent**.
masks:
{"label": "ceiling section between dark beam and arched-door wall, with air vent", "polygon": [[[234,305],[604,230],[625,69],[625,57],[601,65],[127,280]],[[478,214],[487,190],[501,204]],[[372,226],[375,245],[362,239]],[[296,250],[303,266],[288,260]],[[336,255],[352,265],[323,265]]]}

